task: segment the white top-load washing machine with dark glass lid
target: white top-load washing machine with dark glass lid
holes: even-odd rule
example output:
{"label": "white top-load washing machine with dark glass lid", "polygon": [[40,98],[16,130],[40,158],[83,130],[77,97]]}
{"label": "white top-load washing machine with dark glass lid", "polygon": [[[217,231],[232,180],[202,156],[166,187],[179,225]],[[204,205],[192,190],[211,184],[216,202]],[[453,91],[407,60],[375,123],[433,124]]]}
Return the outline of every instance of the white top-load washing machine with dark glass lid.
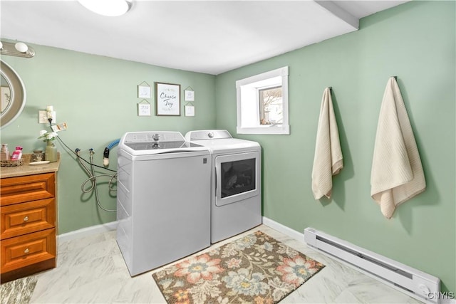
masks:
{"label": "white top-load washing machine with dark glass lid", "polygon": [[117,242],[131,276],[210,246],[210,154],[180,132],[118,146]]}

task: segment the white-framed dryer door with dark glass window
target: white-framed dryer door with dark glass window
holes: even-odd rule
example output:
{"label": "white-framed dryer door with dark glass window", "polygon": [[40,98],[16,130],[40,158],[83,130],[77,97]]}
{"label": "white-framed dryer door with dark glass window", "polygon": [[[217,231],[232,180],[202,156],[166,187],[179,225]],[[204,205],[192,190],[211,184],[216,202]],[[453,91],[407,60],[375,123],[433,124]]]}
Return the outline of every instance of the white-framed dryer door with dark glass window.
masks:
{"label": "white-framed dryer door with dark glass window", "polygon": [[259,195],[259,152],[215,157],[215,205],[232,204]]}

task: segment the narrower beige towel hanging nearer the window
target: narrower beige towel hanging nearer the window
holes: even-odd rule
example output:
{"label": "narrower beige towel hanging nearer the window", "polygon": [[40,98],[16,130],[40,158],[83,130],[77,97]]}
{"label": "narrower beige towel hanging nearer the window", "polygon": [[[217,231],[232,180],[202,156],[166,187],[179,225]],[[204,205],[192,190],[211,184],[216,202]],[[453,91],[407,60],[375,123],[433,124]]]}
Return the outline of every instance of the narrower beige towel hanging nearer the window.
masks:
{"label": "narrower beige towel hanging nearer the window", "polygon": [[314,167],[312,168],[312,192],[315,199],[331,197],[333,175],[343,168],[341,144],[336,116],[334,115],[331,89],[326,88],[321,100],[320,117],[316,133]]}

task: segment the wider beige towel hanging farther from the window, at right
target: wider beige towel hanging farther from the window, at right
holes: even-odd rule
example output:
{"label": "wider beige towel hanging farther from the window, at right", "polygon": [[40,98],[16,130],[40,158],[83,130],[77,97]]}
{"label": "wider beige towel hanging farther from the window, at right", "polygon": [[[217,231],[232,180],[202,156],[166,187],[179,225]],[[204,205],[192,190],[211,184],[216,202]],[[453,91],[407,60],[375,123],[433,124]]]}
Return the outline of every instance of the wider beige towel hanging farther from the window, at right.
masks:
{"label": "wider beige towel hanging farther from the window, at right", "polygon": [[388,80],[373,150],[371,196],[390,219],[396,207],[425,191],[426,182],[407,110],[394,77]]}

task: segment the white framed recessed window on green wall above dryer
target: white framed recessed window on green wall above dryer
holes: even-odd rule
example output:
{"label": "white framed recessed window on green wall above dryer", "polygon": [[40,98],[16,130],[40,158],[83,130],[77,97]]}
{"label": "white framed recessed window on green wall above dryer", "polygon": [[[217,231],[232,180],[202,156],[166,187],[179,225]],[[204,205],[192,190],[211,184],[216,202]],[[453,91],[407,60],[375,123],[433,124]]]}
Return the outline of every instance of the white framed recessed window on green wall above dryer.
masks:
{"label": "white framed recessed window on green wall above dryer", "polygon": [[237,80],[237,133],[289,135],[288,66]]}

